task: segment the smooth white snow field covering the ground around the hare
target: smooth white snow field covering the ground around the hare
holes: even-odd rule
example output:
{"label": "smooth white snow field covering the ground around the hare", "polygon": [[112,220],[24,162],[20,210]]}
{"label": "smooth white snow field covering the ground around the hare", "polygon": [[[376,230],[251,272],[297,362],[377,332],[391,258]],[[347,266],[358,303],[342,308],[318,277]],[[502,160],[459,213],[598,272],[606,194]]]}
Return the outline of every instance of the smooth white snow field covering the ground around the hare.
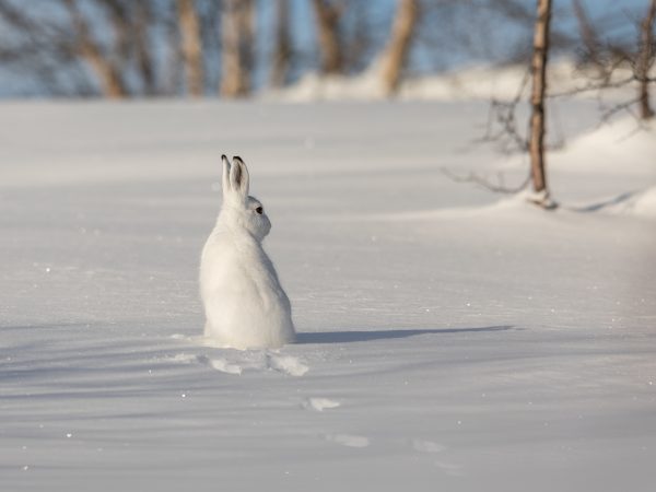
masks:
{"label": "smooth white snow field covering the ground around the hare", "polygon": [[[652,490],[653,133],[559,113],[547,213],[442,173],[525,175],[484,103],[3,104],[2,490]],[[280,350],[201,338],[221,153]]]}

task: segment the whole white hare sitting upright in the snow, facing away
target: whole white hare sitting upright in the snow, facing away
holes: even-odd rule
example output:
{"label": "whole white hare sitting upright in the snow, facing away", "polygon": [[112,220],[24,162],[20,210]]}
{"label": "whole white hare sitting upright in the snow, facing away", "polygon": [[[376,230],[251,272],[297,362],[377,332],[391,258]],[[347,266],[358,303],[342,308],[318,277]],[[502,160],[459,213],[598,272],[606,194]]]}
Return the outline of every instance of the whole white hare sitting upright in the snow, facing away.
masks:
{"label": "whole white hare sitting upright in the snow, facing away", "polygon": [[248,196],[239,157],[223,162],[223,204],[200,260],[204,335],[221,347],[279,348],[294,341],[290,300],[262,248],[271,222]]}

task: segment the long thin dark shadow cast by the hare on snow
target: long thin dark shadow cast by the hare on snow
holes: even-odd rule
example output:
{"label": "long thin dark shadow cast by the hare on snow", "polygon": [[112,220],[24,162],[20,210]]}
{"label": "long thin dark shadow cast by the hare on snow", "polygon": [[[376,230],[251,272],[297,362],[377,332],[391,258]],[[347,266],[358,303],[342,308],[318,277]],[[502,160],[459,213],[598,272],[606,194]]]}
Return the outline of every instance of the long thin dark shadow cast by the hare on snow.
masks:
{"label": "long thin dark shadow cast by the hare on snow", "polygon": [[445,329],[406,329],[406,330],[372,330],[372,331],[316,331],[296,335],[296,343],[353,343],[374,340],[390,340],[419,335],[468,333],[481,331],[507,331],[517,329],[514,326],[487,326],[480,328],[445,328]]}

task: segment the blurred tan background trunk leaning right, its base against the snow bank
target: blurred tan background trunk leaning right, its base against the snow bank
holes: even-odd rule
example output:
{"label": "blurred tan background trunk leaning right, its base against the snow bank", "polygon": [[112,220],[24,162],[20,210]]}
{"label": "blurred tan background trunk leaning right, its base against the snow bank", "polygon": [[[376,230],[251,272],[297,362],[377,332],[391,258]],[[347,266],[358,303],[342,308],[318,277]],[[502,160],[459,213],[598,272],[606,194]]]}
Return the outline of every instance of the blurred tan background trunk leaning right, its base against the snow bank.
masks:
{"label": "blurred tan background trunk leaning right, its base against the snow bank", "polygon": [[418,0],[399,0],[391,37],[383,55],[383,85],[388,95],[395,93],[399,86],[418,14]]}

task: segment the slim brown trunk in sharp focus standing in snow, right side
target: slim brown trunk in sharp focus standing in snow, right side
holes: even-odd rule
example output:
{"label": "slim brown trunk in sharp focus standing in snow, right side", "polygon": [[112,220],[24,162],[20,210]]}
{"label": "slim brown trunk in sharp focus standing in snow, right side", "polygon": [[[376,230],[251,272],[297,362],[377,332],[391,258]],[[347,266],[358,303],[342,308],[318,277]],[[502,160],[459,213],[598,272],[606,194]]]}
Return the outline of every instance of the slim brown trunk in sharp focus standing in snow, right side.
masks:
{"label": "slim brown trunk in sharp focus standing in snow, right side", "polygon": [[549,188],[544,174],[544,94],[547,91],[547,62],[549,54],[549,23],[551,0],[538,0],[531,61],[532,92],[530,97],[530,169],[534,190],[539,204],[549,203]]}

